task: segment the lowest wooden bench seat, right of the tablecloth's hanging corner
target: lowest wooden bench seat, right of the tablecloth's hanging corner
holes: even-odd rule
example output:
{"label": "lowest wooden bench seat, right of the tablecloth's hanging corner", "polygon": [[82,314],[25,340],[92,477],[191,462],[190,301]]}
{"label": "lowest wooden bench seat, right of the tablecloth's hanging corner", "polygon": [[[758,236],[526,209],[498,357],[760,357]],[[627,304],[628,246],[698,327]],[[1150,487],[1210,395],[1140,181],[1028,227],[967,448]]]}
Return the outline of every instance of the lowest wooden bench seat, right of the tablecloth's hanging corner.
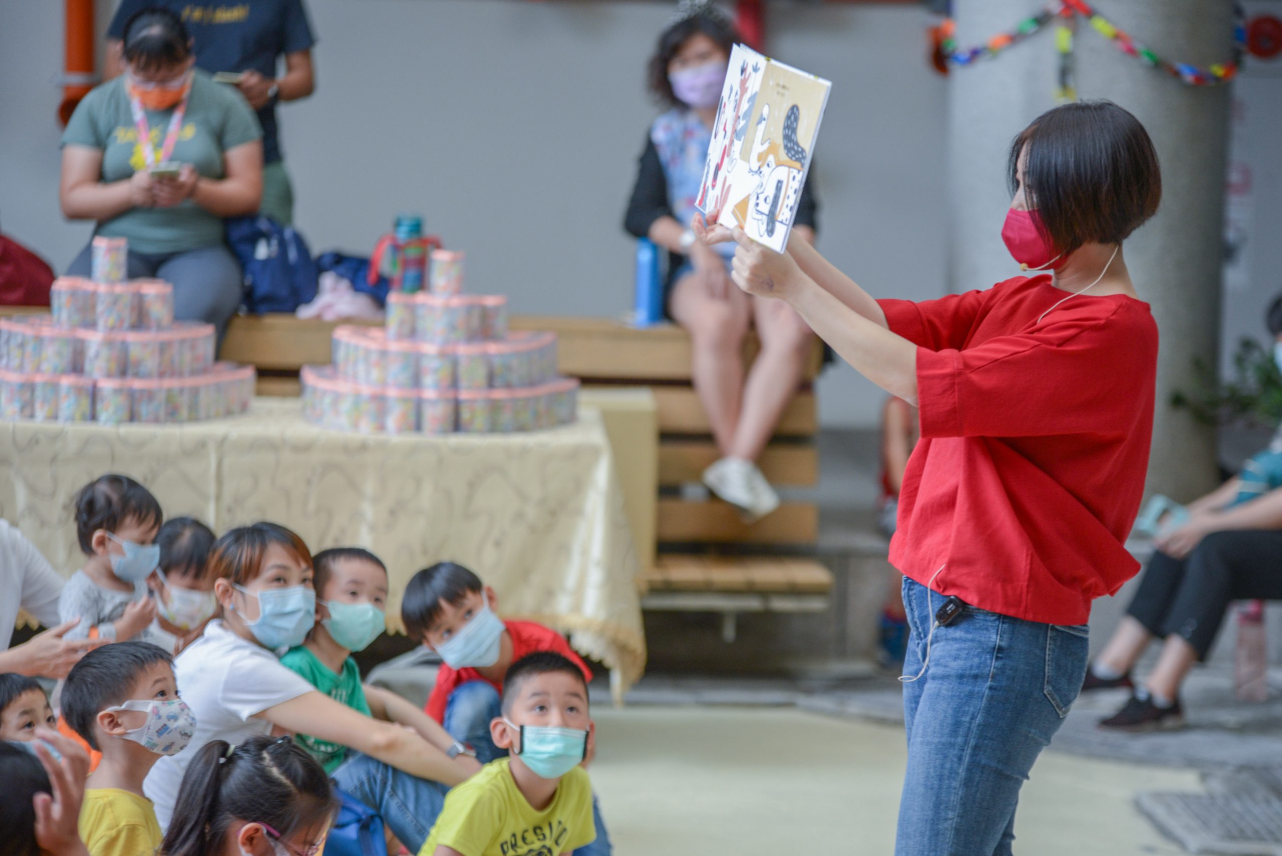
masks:
{"label": "lowest wooden bench seat, right of the tablecloth's hanging corner", "polygon": [[795,556],[660,555],[645,574],[651,592],[754,592],[826,595],[832,572]]}

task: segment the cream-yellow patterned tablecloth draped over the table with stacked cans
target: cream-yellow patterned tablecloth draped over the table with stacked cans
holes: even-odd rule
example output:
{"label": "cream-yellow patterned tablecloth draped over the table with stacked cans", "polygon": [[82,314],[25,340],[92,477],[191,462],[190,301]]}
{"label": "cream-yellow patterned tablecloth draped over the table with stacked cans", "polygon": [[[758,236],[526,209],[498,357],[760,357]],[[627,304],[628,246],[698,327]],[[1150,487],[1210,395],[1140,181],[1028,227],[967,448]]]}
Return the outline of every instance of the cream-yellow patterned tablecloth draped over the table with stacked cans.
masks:
{"label": "cream-yellow patterned tablecloth draped over the table with stacked cans", "polygon": [[258,399],[244,416],[185,425],[0,423],[0,516],[65,574],[82,560],[71,498],[123,473],[167,518],[219,533],[273,520],[313,551],[372,550],[397,628],[409,578],[450,559],[494,586],[504,615],[570,633],[615,693],[645,666],[637,555],[595,410],[529,434],[363,437],[308,424],[297,399]]}

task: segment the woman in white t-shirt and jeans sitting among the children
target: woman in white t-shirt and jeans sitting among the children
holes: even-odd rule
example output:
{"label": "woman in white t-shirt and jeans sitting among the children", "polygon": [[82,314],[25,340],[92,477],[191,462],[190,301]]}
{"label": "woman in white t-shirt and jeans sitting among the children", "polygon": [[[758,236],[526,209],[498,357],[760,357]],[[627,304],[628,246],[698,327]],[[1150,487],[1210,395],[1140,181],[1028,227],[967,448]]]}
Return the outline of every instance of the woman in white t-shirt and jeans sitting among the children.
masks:
{"label": "woman in white t-shirt and jeans sitting among the children", "polygon": [[449,787],[467,778],[464,764],[414,732],[329,698],[281,665],[276,651],[301,643],[315,624],[306,545],[283,527],[255,523],[219,538],[209,565],[223,618],[174,660],[196,736],[185,752],[160,759],[144,786],[160,825],[169,825],[183,771],[205,743],[301,733],[353,750],[335,782],[378,811],[417,852]]}

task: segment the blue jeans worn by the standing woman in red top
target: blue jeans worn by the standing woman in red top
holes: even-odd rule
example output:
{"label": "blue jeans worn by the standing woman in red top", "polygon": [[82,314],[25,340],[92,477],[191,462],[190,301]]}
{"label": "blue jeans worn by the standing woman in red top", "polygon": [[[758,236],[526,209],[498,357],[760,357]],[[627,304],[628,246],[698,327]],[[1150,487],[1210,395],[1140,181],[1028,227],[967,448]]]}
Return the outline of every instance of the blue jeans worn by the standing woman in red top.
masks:
{"label": "blue jeans worn by the standing woman in red top", "polygon": [[[904,579],[912,637],[904,674],[922,670],[944,597]],[[896,856],[1009,856],[1015,805],[1033,761],[1086,677],[1087,628],[967,606],[935,630],[929,668],[904,684],[908,771]]]}

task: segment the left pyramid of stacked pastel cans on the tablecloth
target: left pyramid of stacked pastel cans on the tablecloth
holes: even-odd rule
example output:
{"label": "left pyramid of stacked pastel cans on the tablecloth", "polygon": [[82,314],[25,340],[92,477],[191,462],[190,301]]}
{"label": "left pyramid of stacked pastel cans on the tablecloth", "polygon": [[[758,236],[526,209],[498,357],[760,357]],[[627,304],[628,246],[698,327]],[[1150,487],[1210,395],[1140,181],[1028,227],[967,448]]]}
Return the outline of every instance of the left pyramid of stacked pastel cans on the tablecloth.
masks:
{"label": "left pyramid of stacked pastel cans on the tablecloth", "polygon": [[214,363],[214,327],[173,320],[173,287],[123,277],[121,238],[94,238],[94,279],[54,282],[50,315],[0,319],[0,419],[169,423],[249,407],[251,366]]}

